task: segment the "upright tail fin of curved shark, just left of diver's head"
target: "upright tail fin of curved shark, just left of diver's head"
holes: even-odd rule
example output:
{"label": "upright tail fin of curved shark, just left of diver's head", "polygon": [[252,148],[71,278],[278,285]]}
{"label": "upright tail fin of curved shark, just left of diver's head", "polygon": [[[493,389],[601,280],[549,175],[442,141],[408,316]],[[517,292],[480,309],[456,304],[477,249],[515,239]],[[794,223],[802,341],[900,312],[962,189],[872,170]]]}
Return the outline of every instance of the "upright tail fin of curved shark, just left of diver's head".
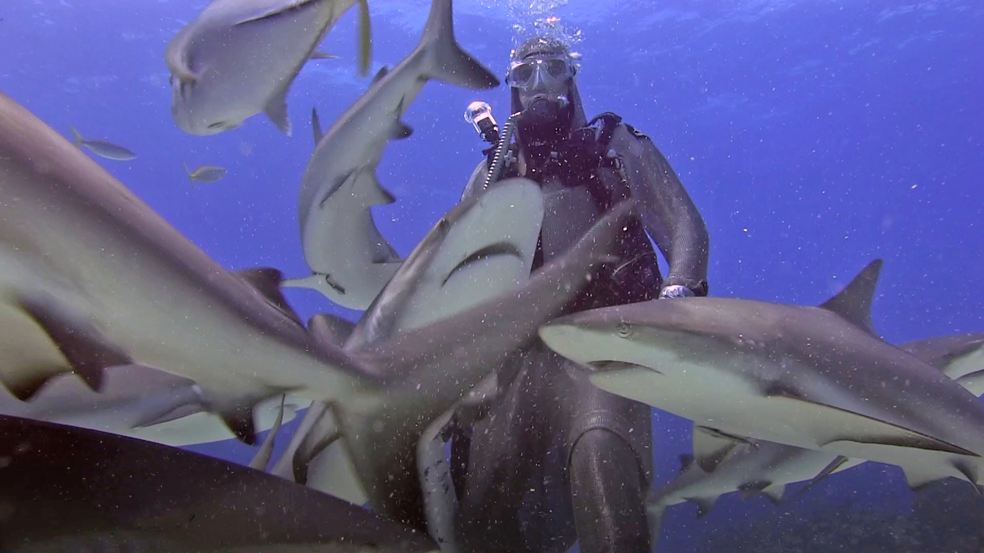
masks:
{"label": "upright tail fin of curved shark, just left of diver's head", "polygon": [[461,49],[455,39],[452,0],[433,0],[427,26],[418,49],[427,51],[425,77],[466,89],[484,90],[499,86],[499,79]]}

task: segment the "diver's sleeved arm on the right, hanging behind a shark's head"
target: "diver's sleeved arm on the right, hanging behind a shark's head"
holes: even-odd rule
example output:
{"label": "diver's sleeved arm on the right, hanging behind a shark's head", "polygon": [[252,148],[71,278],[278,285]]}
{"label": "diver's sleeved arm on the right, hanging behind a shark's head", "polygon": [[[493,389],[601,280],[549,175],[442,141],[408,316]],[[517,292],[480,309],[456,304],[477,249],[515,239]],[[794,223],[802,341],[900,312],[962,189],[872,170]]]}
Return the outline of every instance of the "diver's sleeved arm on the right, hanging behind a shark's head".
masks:
{"label": "diver's sleeved arm on the right, hanging behind a shark's head", "polygon": [[611,146],[629,154],[623,158],[630,192],[639,202],[646,232],[669,265],[663,288],[682,285],[707,295],[707,226],[673,167],[648,138],[637,138],[625,126],[618,127]]}

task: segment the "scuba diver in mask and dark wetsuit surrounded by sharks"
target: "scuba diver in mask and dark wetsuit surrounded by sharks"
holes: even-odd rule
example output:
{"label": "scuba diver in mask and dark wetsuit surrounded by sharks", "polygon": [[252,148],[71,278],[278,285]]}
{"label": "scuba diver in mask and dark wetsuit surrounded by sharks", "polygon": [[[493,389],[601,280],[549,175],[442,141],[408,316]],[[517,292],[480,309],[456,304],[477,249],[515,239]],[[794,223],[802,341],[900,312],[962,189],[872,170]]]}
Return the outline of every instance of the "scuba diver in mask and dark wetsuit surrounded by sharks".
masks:
{"label": "scuba diver in mask and dark wetsuit surrounded by sharks", "polygon": [[[534,269],[618,201],[638,201],[613,252],[621,261],[568,313],[707,295],[707,228],[663,155],[613,113],[586,120],[578,67],[564,42],[531,38],[512,59],[514,115],[502,136],[487,104],[474,102],[465,113],[493,146],[462,198],[512,176],[538,182],[545,212]],[[646,232],[667,260],[665,279]],[[595,388],[584,369],[538,338],[498,368],[498,379],[499,393],[481,414],[462,417],[449,432],[461,549],[560,553],[580,540],[584,553],[647,553],[650,408]]]}

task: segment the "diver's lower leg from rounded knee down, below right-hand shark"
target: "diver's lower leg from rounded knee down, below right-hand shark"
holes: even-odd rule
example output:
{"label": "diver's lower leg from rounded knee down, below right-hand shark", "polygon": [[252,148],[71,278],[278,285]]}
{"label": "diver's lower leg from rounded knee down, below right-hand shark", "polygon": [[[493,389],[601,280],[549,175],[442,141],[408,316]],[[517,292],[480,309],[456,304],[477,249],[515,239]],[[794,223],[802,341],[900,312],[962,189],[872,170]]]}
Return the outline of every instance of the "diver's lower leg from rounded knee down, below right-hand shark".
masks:
{"label": "diver's lower leg from rounded knee down, below right-hand shark", "polygon": [[574,444],[569,470],[582,553],[649,553],[646,475],[633,447],[590,429]]}

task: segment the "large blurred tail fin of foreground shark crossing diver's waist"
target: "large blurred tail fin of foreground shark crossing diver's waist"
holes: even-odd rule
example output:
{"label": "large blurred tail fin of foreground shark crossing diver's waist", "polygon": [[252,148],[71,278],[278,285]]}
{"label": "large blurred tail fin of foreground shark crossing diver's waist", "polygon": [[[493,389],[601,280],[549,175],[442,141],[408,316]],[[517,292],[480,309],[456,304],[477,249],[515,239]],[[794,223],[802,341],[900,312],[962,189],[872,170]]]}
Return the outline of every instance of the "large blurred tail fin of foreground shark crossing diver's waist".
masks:
{"label": "large blurred tail fin of foreground shark crossing diver's waist", "polygon": [[[529,181],[512,184],[535,186]],[[477,197],[477,203],[485,197],[489,196]],[[463,202],[431,232],[448,234],[453,228],[449,219],[473,205]],[[380,389],[375,400],[330,402],[345,450],[374,510],[411,527],[425,526],[416,461],[424,429],[534,338],[539,325],[556,317],[595,270],[611,261],[607,252],[632,209],[630,202],[616,206],[564,256],[492,299],[392,338],[346,346],[356,358],[405,374]],[[404,264],[389,285],[401,285],[400,273],[413,270],[412,263]]]}

